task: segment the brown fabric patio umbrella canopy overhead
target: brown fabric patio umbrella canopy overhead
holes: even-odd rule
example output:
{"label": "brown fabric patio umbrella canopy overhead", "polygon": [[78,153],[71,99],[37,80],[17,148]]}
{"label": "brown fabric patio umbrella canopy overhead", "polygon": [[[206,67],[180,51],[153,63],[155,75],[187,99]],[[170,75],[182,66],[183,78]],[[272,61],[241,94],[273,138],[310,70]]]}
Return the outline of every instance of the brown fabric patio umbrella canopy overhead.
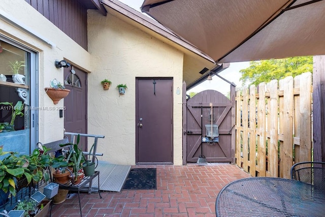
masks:
{"label": "brown fabric patio umbrella canopy overhead", "polygon": [[325,54],[323,0],[145,0],[141,10],[216,63]]}

